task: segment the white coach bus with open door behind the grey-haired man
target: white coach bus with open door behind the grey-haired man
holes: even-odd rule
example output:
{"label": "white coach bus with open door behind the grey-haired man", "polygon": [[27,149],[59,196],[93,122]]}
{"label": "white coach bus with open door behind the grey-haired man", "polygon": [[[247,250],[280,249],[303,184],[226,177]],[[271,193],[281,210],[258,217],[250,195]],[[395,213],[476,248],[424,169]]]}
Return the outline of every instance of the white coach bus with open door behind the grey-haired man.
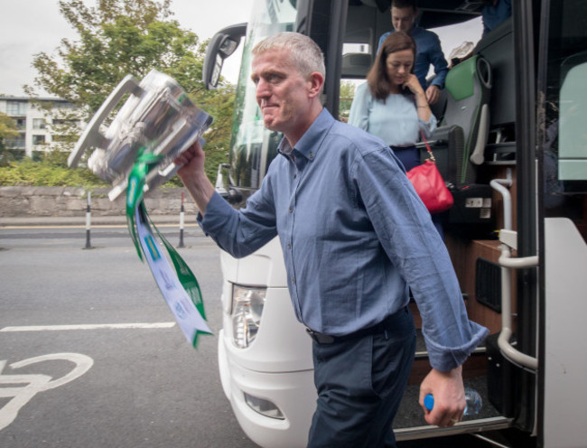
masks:
{"label": "white coach bus with open door behind the grey-haired man", "polygon": [[[455,199],[443,219],[463,300],[491,333],[463,369],[483,406],[452,428],[425,425],[417,405],[429,369],[421,343],[396,437],[468,433],[498,446],[587,446],[587,2],[514,0],[511,17],[481,37],[484,3],[420,0],[418,17],[422,27],[451,26],[457,37],[473,21],[479,26],[433,109],[443,126],[432,144]],[[204,66],[209,88],[244,40],[229,163],[217,181],[234,207],[260,187],[281,137],[264,128],[256,106],[249,79],[256,42],[282,31],[318,42],[324,105],[344,120],[351,98],[341,92],[365,79],[379,36],[391,29],[389,4],[256,0],[248,23],[214,36]],[[293,314],[281,249],[274,240],[250,257],[222,254],[221,265],[226,396],[255,443],[303,447],[316,399],[311,340]]]}

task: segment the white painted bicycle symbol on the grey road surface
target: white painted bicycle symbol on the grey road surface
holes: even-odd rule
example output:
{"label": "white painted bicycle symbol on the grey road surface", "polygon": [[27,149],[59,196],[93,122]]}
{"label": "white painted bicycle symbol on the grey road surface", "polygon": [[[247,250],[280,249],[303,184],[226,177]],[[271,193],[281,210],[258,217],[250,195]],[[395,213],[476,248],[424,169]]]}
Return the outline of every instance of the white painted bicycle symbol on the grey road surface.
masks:
{"label": "white painted bicycle symbol on the grey road surface", "polygon": [[[75,367],[70,373],[61,378],[52,379],[49,375],[3,375],[2,371],[6,366],[6,359],[0,360],[0,398],[12,399],[0,408],[0,431],[14,422],[16,415],[21,408],[31,399],[45,390],[63,386],[76,378],[81,377],[94,365],[94,359],[80,353],[52,353],[49,355],[37,356],[35,358],[23,359],[22,361],[10,364],[11,369],[20,369],[37,362],[47,360],[66,360],[73,362]],[[23,385],[18,387],[3,387],[3,385]]]}

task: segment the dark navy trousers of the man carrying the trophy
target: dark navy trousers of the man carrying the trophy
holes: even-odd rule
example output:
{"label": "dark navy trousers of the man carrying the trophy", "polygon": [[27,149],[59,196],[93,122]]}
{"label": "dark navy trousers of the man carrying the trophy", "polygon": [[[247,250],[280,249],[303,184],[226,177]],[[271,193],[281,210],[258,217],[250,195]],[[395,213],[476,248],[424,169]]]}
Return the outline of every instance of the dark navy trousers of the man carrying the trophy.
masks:
{"label": "dark navy trousers of the man carrying the trophy", "polygon": [[308,448],[395,447],[391,428],[415,354],[407,308],[374,334],[312,344],[318,392]]}

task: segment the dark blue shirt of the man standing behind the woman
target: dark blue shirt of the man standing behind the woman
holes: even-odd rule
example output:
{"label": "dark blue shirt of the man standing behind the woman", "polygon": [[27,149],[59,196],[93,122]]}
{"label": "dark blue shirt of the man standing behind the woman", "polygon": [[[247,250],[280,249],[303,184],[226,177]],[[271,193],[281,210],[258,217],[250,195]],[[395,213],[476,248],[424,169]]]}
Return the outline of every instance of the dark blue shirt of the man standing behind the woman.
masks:
{"label": "dark blue shirt of the man standing behind the woman", "polygon": [[[379,38],[379,44],[377,46],[377,52],[381,47],[386,37],[393,33],[393,31],[384,33]],[[415,63],[414,63],[414,74],[420,81],[422,89],[426,89],[426,77],[430,70],[430,65],[434,67],[434,77],[431,85],[438,86],[439,89],[444,89],[444,79],[446,74],[449,72],[448,63],[444,59],[443,47],[441,46],[440,39],[436,33],[433,33],[419,26],[412,28],[410,35],[415,41]]]}

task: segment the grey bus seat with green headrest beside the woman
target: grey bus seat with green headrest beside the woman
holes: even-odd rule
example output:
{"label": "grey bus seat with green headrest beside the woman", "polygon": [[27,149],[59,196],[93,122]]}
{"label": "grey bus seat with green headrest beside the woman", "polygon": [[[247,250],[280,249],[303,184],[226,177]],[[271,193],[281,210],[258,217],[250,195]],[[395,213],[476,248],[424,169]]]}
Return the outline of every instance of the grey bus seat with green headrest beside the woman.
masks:
{"label": "grey bus seat with green headrest beside the woman", "polygon": [[[476,181],[476,166],[483,163],[483,154],[489,133],[489,96],[491,68],[488,61],[475,55],[449,70],[444,90],[446,110],[442,126],[433,133],[436,158],[440,157],[439,170],[447,182],[471,183]],[[460,131],[459,131],[460,129]],[[451,143],[459,138],[451,133],[461,132],[461,147]],[[446,147],[446,151],[442,148]],[[444,160],[443,160],[444,159]],[[444,172],[442,167],[445,166]]]}

